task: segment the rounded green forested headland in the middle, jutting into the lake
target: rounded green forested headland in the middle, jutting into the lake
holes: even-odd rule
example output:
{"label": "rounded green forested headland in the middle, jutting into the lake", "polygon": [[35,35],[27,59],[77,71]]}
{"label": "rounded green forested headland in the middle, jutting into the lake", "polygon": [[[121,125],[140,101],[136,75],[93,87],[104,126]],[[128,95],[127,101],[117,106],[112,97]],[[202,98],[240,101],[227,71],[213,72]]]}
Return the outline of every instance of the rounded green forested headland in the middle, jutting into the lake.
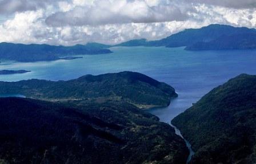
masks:
{"label": "rounded green forested headland in the middle, jutting into the lake", "polygon": [[137,106],[167,106],[177,97],[165,83],[135,72],[86,75],[69,81],[24,80],[0,82],[0,94],[19,94],[31,99],[76,101],[77,104],[125,101]]}

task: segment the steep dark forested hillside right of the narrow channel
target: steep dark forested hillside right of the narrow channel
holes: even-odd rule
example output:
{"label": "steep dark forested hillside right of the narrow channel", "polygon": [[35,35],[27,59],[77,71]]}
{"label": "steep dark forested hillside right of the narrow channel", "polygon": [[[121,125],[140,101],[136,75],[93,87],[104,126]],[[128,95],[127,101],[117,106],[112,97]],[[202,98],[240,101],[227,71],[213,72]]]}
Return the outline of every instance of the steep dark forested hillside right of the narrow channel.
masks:
{"label": "steep dark forested hillside right of the narrow channel", "polygon": [[195,150],[191,163],[255,163],[256,76],[229,80],[172,123]]}

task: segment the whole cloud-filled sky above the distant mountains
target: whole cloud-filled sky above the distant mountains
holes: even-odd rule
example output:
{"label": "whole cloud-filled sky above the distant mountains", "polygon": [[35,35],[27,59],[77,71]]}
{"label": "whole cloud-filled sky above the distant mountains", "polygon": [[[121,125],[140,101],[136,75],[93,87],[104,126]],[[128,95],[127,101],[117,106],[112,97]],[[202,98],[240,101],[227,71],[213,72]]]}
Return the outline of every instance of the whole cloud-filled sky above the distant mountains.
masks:
{"label": "whole cloud-filled sky above the distant mountains", "polygon": [[216,23],[256,28],[256,0],[0,0],[0,42],[117,44]]}

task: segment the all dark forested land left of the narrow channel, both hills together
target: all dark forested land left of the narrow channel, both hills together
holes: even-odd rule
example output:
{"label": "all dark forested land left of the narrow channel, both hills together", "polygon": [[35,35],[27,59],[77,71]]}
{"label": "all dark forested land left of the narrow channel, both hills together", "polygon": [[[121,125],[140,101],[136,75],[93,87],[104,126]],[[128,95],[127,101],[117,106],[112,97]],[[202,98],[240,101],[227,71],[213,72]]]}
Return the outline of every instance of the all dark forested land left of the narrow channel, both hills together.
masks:
{"label": "all dark forested land left of the narrow channel, both hills together", "polygon": [[141,73],[1,82],[0,92],[34,98],[0,98],[0,163],[185,164],[189,155],[169,124],[138,107],[177,94]]}

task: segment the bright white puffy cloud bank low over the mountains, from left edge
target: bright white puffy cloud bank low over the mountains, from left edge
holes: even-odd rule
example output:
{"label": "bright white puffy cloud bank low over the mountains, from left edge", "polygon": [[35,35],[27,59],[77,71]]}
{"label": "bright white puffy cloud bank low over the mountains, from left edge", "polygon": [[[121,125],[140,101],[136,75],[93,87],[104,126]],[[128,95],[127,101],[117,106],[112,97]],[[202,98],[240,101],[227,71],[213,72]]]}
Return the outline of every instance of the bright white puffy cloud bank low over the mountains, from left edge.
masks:
{"label": "bright white puffy cloud bank low over the mountains, from left edge", "polygon": [[6,20],[0,25],[0,42],[53,45],[86,44],[87,42],[116,44],[138,38],[161,39],[189,25],[190,27],[202,26],[200,23],[173,21],[49,27],[45,23],[45,13],[42,9],[16,13],[13,19]]}

